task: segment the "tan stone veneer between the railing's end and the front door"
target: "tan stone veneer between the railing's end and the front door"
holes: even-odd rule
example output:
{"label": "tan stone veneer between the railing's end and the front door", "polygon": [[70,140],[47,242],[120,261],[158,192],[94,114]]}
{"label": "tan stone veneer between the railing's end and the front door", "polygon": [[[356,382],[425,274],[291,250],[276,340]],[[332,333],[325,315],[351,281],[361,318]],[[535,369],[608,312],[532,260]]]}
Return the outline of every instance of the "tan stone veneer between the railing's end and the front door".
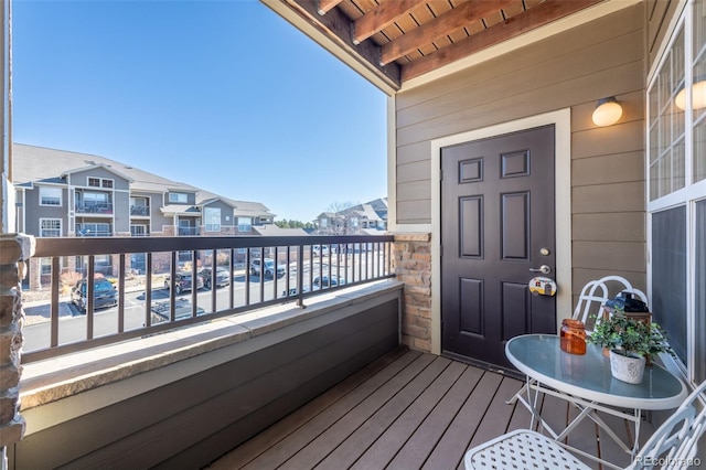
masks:
{"label": "tan stone veneer between the railing's end and the front door", "polygon": [[395,234],[393,261],[405,282],[402,339],[419,351],[431,351],[431,235]]}

